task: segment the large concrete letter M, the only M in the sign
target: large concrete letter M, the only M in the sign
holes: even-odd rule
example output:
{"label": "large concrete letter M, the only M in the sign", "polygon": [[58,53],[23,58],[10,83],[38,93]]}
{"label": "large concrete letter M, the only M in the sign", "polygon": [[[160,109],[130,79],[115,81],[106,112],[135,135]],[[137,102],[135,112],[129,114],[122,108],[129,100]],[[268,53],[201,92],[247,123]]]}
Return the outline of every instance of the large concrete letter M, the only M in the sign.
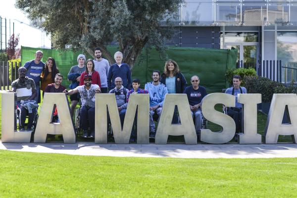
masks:
{"label": "large concrete letter M, the only M in the sign", "polygon": [[123,130],[117,109],[114,94],[96,94],[96,111],[95,111],[95,143],[107,143],[107,108],[113,131],[114,141],[116,144],[129,144],[131,130],[135,118],[136,108],[137,115],[137,144],[149,143],[149,95],[132,94],[129,97],[129,103],[124,120]]}

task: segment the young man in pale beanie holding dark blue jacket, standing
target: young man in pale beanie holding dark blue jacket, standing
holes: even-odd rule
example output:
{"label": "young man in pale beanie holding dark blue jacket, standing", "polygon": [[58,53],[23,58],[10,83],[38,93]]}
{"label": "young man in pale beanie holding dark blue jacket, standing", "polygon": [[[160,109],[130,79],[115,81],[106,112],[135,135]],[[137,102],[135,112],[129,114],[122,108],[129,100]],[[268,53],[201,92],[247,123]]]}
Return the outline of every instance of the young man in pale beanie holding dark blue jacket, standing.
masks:
{"label": "young man in pale beanie holding dark blue jacket, standing", "polygon": [[[71,81],[71,84],[69,86],[70,89],[74,89],[77,86],[79,86],[81,74],[84,71],[86,71],[86,66],[85,66],[86,56],[84,54],[79,54],[77,56],[77,62],[78,62],[78,65],[72,66],[68,73],[68,80]],[[80,99],[80,96],[78,93],[70,96],[70,100],[71,100],[70,115],[71,115],[71,117],[73,117],[74,109],[75,109],[79,99]]]}

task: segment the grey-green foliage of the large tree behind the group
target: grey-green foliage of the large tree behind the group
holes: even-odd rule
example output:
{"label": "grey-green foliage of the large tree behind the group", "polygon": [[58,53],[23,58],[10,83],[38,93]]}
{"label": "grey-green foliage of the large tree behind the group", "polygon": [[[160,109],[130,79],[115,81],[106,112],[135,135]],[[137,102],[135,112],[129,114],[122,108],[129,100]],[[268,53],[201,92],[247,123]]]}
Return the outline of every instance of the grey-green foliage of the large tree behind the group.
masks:
{"label": "grey-green foliage of the large tree behind the group", "polygon": [[[107,45],[116,42],[124,62],[133,67],[145,46],[164,49],[183,0],[16,0],[31,19],[43,18],[55,48],[70,45],[94,55],[95,47],[114,63]],[[161,25],[165,22],[166,25]]]}

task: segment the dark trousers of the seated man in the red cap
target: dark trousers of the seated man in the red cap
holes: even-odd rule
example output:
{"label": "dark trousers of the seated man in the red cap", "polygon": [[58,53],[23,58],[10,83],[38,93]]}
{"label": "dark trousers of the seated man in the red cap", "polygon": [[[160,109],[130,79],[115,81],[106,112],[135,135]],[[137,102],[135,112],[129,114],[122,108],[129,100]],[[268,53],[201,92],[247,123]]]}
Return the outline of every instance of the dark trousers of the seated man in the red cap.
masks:
{"label": "dark trousers of the seated man in the red cap", "polygon": [[80,119],[82,121],[82,129],[86,131],[89,126],[90,131],[93,132],[95,130],[95,107],[82,106]]}

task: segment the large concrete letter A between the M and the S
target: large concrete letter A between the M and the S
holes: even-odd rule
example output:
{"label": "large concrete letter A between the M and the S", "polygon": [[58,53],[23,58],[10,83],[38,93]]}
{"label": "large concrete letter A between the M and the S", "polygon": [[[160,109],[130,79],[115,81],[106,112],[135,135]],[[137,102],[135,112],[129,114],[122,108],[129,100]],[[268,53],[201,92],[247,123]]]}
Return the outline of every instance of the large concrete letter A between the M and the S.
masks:
{"label": "large concrete letter A between the M and the S", "polygon": [[[171,124],[174,107],[177,105],[181,124]],[[167,94],[162,108],[155,144],[166,144],[168,135],[184,135],[186,144],[197,144],[194,121],[186,94]]]}

